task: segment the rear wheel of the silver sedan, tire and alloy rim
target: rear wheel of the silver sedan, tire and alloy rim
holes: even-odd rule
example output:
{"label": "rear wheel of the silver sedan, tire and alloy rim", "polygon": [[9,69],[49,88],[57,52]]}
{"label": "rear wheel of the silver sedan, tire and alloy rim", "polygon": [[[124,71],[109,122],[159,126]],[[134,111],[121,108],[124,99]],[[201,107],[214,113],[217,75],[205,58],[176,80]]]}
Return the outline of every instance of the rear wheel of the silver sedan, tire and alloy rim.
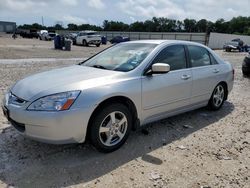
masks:
{"label": "rear wheel of the silver sedan, tire and alloy rim", "polygon": [[219,110],[222,107],[226,98],[227,91],[225,85],[220,83],[215,87],[212,93],[212,96],[208,102],[208,108],[214,111]]}

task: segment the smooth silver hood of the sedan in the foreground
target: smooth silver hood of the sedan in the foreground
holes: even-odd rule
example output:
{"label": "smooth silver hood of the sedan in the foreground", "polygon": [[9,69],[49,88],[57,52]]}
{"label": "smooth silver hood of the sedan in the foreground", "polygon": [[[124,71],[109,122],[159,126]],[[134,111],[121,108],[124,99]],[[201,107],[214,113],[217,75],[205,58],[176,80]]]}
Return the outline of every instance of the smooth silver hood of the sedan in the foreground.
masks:
{"label": "smooth silver hood of the sedan in the foreground", "polygon": [[11,88],[11,92],[17,97],[29,101],[41,92],[49,95],[56,92],[95,87],[100,83],[108,83],[121,74],[124,73],[74,65],[28,76],[18,81]]}

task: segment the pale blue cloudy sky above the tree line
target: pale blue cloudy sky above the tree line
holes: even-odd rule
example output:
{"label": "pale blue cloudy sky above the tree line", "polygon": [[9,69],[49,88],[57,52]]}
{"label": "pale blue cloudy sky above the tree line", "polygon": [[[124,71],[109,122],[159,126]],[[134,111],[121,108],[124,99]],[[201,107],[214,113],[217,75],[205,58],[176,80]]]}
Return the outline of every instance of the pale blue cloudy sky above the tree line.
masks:
{"label": "pale blue cloudy sky above the tree line", "polygon": [[132,23],[152,17],[230,20],[250,16],[250,0],[0,0],[0,20],[18,25],[95,24],[103,20]]}

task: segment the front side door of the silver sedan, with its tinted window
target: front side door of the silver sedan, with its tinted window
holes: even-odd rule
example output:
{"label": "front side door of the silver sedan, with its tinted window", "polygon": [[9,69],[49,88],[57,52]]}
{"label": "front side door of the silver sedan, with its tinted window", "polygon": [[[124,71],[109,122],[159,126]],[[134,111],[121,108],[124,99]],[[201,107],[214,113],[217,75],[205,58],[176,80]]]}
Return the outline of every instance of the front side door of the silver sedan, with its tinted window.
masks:
{"label": "front side door of the silver sedan, with its tinted window", "polygon": [[142,106],[145,119],[157,118],[190,104],[192,73],[187,68],[183,45],[163,49],[154,63],[170,65],[170,72],[142,78]]}

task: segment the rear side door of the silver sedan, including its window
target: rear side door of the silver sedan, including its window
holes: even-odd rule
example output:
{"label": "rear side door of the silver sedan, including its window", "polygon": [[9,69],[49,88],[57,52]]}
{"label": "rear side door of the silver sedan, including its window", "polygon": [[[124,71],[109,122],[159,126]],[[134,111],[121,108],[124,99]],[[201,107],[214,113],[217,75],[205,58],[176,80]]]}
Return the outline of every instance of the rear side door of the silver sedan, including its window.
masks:
{"label": "rear side door of the silver sedan, including its window", "polygon": [[209,100],[218,82],[220,67],[206,48],[188,45],[187,49],[193,75],[191,103],[198,104]]}

